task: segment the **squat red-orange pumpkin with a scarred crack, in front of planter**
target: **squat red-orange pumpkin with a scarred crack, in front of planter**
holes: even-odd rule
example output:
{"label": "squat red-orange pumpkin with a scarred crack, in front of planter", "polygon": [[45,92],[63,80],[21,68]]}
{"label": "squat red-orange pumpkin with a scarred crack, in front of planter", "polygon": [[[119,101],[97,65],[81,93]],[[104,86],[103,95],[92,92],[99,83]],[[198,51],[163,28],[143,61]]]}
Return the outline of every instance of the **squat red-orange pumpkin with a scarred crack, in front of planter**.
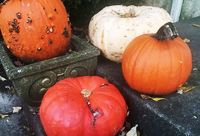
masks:
{"label": "squat red-orange pumpkin with a scarred crack, in front of planter", "polygon": [[49,88],[39,113],[48,136],[114,136],[123,127],[127,107],[107,80],[82,76]]}

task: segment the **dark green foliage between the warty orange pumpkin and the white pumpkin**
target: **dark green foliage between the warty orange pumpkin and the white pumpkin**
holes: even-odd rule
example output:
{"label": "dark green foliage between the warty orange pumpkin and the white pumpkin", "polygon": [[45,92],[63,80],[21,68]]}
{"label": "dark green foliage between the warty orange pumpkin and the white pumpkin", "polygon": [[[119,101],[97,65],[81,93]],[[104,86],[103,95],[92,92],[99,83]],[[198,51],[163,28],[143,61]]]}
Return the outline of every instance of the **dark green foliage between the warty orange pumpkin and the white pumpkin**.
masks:
{"label": "dark green foliage between the warty orange pumpkin and the white pumpkin", "polygon": [[106,6],[135,5],[141,0],[62,0],[73,26],[87,26],[92,16]]}

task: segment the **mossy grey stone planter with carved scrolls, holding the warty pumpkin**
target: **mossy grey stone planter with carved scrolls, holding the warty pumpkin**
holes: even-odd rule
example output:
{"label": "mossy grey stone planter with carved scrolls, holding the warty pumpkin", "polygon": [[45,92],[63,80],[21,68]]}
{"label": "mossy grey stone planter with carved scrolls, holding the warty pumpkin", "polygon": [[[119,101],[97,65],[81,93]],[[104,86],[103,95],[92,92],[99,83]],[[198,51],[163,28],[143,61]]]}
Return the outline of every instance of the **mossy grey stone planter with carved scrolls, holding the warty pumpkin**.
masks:
{"label": "mossy grey stone planter with carved scrolls, holding the warty pumpkin", "polygon": [[74,35],[71,45],[81,50],[32,64],[16,66],[6,51],[5,43],[0,42],[1,63],[15,90],[28,105],[39,106],[47,89],[61,79],[94,75],[100,50]]}

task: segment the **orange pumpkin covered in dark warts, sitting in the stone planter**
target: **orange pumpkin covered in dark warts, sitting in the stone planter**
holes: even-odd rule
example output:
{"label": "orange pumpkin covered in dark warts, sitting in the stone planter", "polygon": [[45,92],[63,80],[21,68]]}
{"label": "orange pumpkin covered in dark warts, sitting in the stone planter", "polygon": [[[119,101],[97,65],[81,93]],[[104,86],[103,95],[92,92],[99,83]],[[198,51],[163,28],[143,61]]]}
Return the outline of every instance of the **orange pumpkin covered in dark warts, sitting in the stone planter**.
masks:
{"label": "orange pumpkin covered in dark warts, sitting in the stone planter", "polygon": [[7,48],[27,63],[64,54],[71,39],[61,0],[5,0],[0,26]]}

